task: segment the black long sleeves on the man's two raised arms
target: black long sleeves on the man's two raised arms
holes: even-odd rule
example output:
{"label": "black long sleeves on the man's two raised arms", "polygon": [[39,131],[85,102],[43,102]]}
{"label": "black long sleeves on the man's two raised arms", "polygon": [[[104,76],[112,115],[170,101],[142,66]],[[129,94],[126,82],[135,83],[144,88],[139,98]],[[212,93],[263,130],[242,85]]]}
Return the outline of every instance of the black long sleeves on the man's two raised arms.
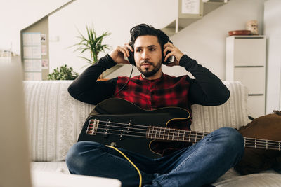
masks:
{"label": "black long sleeves on the man's two raised arms", "polygon": [[[68,88],[70,95],[81,102],[89,104],[98,104],[103,99],[115,95],[119,88],[120,77],[112,78],[108,81],[96,81],[103,71],[110,69],[115,64],[116,62],[112,60],[110,55],[100,58],[96,64],[88,67],[73,81]],[[195,77],[195,79],[192,79],[189,76],[184,76],[185,81],[189,83],[188,88],[186,88],[188,89],[187,97],[189,104],[216,106],[227,101],[230,96],[228,88],[209,69],[202,67],[196,60],[191,59],[187,55],[181,57],[180,66],[184,67],[186,71],[189,71]],[[175,80],[178,79],[175,78]]]}

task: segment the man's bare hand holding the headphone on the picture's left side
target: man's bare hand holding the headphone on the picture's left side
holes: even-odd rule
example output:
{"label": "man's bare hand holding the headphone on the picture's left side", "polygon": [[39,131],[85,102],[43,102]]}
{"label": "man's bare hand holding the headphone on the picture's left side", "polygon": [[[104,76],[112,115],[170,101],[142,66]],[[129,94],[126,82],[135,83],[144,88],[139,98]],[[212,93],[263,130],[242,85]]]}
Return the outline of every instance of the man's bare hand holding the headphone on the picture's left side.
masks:
{"label": "man's bare hand holding the headphone on the picture's left side", "polygon": [[129,43],[125,43],[124,46],[117,46],[115,50],[110,52],[110,57],[112,57],[112,60],[114,60],[117,64],[130,64],[128,60],[128,48],[133,52],[133,48],[129,45]]}

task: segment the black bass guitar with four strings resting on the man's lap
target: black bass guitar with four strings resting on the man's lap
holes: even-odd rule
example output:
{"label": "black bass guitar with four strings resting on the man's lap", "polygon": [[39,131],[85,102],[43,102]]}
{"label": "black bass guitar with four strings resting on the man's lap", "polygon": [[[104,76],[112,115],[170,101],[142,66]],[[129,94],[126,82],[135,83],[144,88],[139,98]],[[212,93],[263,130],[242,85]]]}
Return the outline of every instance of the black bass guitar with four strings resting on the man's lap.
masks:
{"label": "black bass guitar with four strings resting on the man's lap", "polygon": [[[185,148],[203,139],[208,132],[190,130],[190,113],[179,107],[147,111],[125,99],[105,99],[86,119],[78,141],[124,148],[159,158],[170,150]],[[244,137],[244,146],[279,150],[280,141]]]}

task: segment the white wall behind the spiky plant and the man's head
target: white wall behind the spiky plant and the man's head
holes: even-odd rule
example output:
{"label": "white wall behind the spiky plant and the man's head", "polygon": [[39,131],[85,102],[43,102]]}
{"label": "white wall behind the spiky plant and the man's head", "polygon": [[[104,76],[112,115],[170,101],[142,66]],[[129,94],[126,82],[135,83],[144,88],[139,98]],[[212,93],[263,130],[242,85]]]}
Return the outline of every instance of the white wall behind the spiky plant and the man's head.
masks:
{"label": "white wall behind the spiky plant and the man's head", "polygon": [[[129,29],[145,22],[162,28],[176,18],[175,0],[78,0],[63,8],[49,18],[50,71],[63,64],[81,72],[88,65],[78,56],[75,47],[79,42],[79,31],[86,35],[86,25],[93,25],[98,35],[111,32],[104,43],[113,48],[121,46],[130,39]],[[110,50],[107,50],[108,53]],[[101,53],[102,57],[106,53]],[[84,56],[84,55],[83,55]],[[89,57],[86,55],[86,57]],[[84,67],[84,68],[82,68]]]}

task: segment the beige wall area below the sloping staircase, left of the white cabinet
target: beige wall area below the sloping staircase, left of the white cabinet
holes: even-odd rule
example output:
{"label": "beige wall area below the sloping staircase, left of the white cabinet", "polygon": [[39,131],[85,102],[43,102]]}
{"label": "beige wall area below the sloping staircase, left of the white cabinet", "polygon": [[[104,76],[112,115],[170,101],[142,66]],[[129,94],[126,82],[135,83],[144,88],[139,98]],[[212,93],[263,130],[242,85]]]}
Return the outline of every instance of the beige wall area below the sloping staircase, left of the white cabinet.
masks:
{"label": "beige wall area below the sloping staircase, left of the white cabinet", "polygon": [[184,53],[225,80],[228,31],[246,29],[249,20],[258,20],[263,34],[265,0],[230,0],[171,37]]}

